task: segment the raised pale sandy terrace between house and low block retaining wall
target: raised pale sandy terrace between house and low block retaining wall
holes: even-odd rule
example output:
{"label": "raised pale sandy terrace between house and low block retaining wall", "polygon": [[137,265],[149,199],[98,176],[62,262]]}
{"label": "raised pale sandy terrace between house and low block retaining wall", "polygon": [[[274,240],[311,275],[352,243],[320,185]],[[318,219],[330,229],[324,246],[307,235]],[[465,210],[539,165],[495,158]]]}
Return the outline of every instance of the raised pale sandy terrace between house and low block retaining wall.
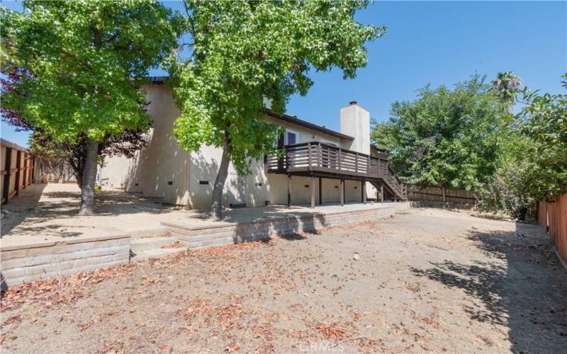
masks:
{"label": "raised pale sandy terrace between house and low block retaining wall", "polygon": [[33,184],[18,198],[3,205],[8,212],[1,219],[2,249],[23,244],[89,240],[97,237],[130,234],[144,236],[164,232],[164,224],[190,224],[208,229],[223,225],[281,218],[283,215],[328,215],[335,212],[371,210],[386,204],[282,205],[224,210],[222,222],[213,222],[204,210],[184,210],[164,205],[159,198],[144,198],[123,190],[103,189],[96,195],[96,215],[79,216],[80,190],[75,184]]}

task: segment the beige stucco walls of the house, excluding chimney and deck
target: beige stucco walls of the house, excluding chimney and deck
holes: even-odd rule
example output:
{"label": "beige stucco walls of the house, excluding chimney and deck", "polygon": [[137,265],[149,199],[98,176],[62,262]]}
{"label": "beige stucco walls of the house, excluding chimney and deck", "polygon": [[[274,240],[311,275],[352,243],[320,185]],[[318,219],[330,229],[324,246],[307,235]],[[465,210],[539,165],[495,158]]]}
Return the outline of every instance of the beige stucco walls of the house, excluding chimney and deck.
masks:
{"label": "beige stucco walls of the house, excluding chimney and deck", "polygon": [[[188,154],[179,147],[172,135],[172,128],[180,112],[174,104],[171,90],[162,85],[147,86],[145,89],[147,101],[150,102],[148,113],[154,120],[148,133],[147,147],[134,159],[108,159],[101,170],[103,183],[148,197],[163,198],[164,202],[187,205],[193,209],[210,208],[221,149],[203,146],[199,152]],[[301,125],[269,117],[266,120],[297,132],[298,143],[327,141],[343,148],[351,147],[349,141],[314,132]],[[350,135],[348,132],[345,134]],[[291,181],[292,203],[310,202],[310,188],[305,186],[310,185],[310,178],[293,176]],[[318,178],[315,178],[317,202],[318,183]],[[339,185],[339,180],[322,179],[323,202],[339,201]],[[360,185],[359,181],[345,181],[347,202],[360,201]],[[287,202],[286,176],[274,173],[266,175],[263,161],[252,162],[252,173],[249,176],[238,176],[231,164],[223,204],[228,206],[245,203],[249,207],[257,207],[266,205],[266,202],[272,205]]]}

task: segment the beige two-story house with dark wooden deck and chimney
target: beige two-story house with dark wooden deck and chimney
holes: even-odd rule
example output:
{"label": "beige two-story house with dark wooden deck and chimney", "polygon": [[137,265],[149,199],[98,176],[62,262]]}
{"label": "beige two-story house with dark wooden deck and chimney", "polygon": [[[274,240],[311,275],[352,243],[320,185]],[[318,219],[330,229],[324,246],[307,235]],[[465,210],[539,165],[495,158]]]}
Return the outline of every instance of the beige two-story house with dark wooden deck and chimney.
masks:
{"label": "beige two-story house with dark wooden deck and chimney", "polygon": [[[203,146],[186,152],[172,133],[180,112],[172,91],[152,78],[147,91],[148,113],[154,122],[147,147],[134,159],[115,157],[100,170],[103,184],[124,188],[164,202],[206,209],[211,205],[213,183],[221,149]],[[278,115],[269,108],[266,120],[282,125],[279,147],[284,157],[266,156],[252,163],[252,173],[238,176],[230,166],[225,183],[225,206],[364,202],[383,195],[405,198],[405,186],[388,168],[387,154],[370,142],[369,111],[357,102],[340,110],[340,132]],[[382,192],[383,191],[383,192]]]}

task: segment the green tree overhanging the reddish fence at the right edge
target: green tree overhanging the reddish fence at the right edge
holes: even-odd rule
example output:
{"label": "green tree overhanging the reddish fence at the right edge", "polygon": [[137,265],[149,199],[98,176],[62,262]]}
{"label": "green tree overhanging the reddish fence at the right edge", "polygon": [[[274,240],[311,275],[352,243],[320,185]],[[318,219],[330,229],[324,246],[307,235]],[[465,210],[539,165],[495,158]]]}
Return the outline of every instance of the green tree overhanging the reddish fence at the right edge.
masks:
{"label": "green tree overhanging the reddish fence at the right edge", "polygon": [[[567,74],[563,76],[567,89]],[[505,130],[483,207],[525,219],[537,200],[567,191],[567,94],[517,93],[524,106]]]}

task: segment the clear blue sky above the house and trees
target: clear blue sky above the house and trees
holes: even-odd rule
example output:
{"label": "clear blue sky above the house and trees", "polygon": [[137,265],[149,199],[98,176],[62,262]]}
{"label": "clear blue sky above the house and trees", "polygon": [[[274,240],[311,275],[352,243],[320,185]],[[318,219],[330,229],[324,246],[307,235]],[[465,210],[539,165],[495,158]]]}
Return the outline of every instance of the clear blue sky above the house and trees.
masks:
{"label": "clear blue sky above the house and trees", "polygon": [[[10,1],[2,6],[21,8]],[[529,88],[563,90],[567,1],[379,1],[357,19],[388,28],[369,43],[368,65],[347,81],[337,69],[313,72],[315,84],[307,96],[291,98],[288,113],[339,130],[339,108],[358,101],[371,118],[387,120],[391,103],[412,100],[425,84],[450,86],[475,73],[492,79],[512,71]],[[4,122],[1,136],[27,144],[25,132],[13,132]]]}

